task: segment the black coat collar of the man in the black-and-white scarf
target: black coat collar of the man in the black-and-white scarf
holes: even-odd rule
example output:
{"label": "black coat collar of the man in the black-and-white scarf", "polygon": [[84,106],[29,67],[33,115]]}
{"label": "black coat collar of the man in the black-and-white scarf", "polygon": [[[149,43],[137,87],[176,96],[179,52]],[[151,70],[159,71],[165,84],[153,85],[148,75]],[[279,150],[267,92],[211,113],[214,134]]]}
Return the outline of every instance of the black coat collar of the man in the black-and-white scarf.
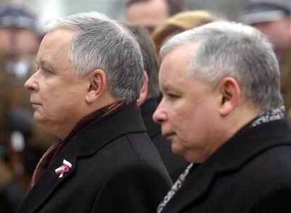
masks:
{"label": "black coat collar of the man in the black-and-white scarf", "polygon": [[259,153],[284,145],[291,146],[291,128],[285,119],[263,123],[254,128],[247,125],[204,163],[190,171],[168,207],[170,206],[171,212],[180,212],[205,195],[219,174],[238,170]]}

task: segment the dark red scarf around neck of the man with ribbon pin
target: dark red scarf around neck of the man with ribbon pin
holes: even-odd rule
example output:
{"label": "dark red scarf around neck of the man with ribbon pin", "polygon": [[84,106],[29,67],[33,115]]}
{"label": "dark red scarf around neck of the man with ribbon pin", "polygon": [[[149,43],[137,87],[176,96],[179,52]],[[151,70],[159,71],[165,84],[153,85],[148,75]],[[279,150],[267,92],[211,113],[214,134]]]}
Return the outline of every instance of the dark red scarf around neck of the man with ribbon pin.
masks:
{"label": "dark red scarf around neck of the man with ribbon pin", "polygon": [[121,111],[125,107],[126,105],[122,102],[115,102],[114,104],[110,104],[106,107],[98,109],[97,111],[89,114],[81,121],[79,121],[79,123],[77,123],[75,128],[72,129],[70,134],[67,135],[65,139],[58,139],[56,142],[53,142],[53,144],[48,148],[48,150],[39,160],[39,163],[37,164],[37,167],[32,174],[32,179],[30,180],[27,192],[29,192],[33,188],[33,186],[37,183],[42,174],[44,174],[44,172],[46,171],[46,168],[51,165],[51,163],[59,156],[60,152],[63,151],[63,149],[65,148],[67,143],[70,142],[70,139],[72,139],[72,137],[75,137],[79,133],[90,128],[92,125],[96,125],[96,123],[103,121],[103,119],[111,116],[112,114],[115,114],[117,111]]}

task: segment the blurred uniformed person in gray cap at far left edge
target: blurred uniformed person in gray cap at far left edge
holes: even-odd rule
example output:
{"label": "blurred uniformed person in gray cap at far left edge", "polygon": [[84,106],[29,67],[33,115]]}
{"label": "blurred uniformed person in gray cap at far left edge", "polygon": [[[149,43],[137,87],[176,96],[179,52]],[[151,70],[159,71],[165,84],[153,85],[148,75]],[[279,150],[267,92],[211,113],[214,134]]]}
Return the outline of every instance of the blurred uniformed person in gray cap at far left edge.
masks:
{"label": "blurred uniformed person in gray cap at far left edge", "polygon": [[[7,212],[21,202],[42,151],[53,140],[32,121],[24,83],[36,69],[37,20],[28,8],[0,11],[0,199]],[[2,202],[2,203],[4,203]]]}

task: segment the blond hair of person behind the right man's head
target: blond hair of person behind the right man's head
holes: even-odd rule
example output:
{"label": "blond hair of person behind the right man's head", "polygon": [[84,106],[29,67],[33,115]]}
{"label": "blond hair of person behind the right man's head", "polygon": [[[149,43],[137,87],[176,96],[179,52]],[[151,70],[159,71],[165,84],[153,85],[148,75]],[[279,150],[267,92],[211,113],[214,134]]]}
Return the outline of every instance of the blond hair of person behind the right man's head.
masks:
{"label": "blond hair of person behind the right man's head", "polygon": [[215,20],[219,18],[208,11],[183,11],[168,18],[152,34],[157,55],[162,45],[172,36]]}

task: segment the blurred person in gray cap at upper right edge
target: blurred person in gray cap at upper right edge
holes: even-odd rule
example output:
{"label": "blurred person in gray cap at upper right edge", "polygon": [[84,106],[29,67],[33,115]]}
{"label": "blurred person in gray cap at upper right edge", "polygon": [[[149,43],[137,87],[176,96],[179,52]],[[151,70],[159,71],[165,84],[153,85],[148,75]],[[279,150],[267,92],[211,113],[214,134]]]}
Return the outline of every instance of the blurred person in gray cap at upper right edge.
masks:
{"label": "blurred person in gray cap at upper right edge", "polygon": [[287,0],[250,0],[240,20],[266,34],[280,63],[281,92],[291,120],[291,3]]}

